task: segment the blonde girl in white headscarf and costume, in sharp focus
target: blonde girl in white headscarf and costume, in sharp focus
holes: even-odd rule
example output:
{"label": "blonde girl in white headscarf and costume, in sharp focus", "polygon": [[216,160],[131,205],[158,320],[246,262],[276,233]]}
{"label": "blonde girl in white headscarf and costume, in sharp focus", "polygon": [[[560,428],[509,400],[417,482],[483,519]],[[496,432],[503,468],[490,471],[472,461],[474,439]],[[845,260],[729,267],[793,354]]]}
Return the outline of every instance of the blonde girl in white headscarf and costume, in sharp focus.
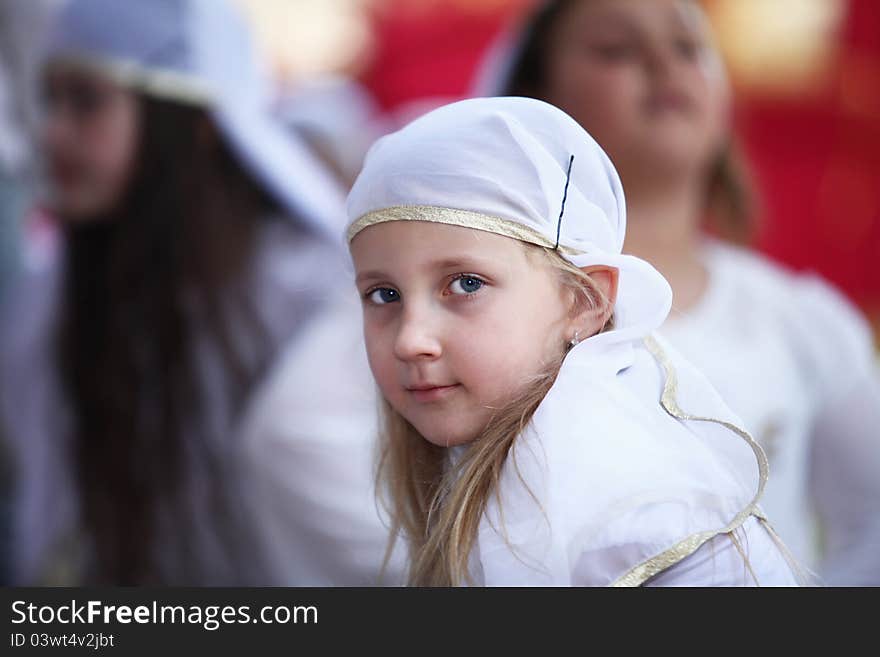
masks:
{"label": "blonde girl in white headscarf and costume, in sharp focus", "polygon": [[570,117],[440,108],[348,207],[411,584],[795,583],[763,452],[652,336],[671,291],[621,255],[620,181]]}

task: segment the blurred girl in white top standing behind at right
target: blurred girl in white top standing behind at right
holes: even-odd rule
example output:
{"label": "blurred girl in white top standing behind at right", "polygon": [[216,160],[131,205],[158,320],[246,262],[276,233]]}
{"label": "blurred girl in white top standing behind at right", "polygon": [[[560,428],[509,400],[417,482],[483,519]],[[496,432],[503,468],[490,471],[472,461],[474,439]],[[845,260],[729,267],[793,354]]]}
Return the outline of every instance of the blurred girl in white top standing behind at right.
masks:
{"label": "blurred girl in white top standing behind at right", "polygon": [[542,3],[494,50],[480,86],[550,102],[602,144],[627,191],[625,250],[675,293],[662,333],[767,451],[774,526],[827,583],[880,582],[871,333],[817,277],[706,237],[708,224],[742,240],[752,213],[730,91],[697,3]]}

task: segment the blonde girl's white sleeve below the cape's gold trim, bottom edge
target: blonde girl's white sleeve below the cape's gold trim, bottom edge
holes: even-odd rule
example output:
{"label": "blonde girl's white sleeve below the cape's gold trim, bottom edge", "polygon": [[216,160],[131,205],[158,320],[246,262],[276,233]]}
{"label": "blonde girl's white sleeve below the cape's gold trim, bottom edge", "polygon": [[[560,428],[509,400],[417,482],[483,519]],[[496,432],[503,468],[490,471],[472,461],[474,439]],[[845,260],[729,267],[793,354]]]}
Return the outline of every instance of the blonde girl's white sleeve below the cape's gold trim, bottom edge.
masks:
{"label": "blonde girl's white sleeve below the cape's gold trim, bottom edge", "polygon": [[749,518],[736,535],[739,547],[727,534],[716,536],[646,586],[798,586],[782,551],[757,518]]}

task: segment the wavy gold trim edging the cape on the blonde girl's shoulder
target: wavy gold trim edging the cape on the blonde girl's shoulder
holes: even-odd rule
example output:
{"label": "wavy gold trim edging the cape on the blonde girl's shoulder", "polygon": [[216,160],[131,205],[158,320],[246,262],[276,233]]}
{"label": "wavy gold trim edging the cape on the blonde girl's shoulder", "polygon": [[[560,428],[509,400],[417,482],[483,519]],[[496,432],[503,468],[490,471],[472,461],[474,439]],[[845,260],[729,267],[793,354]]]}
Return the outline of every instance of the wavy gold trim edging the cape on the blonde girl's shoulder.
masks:
{"label": "wavy gold trim edging the cape on the blonde girl's shoulder", "polygon": [[[643,561],[639,565],[630,569],[626,574],[615,580],[611,584],[611,586],[641,586],[652,577],[659,575],[667,568],[674,566],[683,559],[692,555],[694,552],[700,549],[703,544],[705,544],[712,538],[721,534],[729,534],[735,531],[750,516],[755,516],[764,524],[769,524],[767,523],[766,517],[764,516],[763,512],[757,506],[758,501],[764,494],[764,487],[767,484],[767,478],[770,472],[770,466],[767,463],[767,456],[764,454],[764,450],[761,449],[761,446],[754,438],[752,438],[748,431],[736,426],[731,422],[719,420],[717,418],[691,415],[690,413],[686,413],[685,411],[683,411],[678,405],[678,377],[676,376],[675,367],[672,365],[672,361],[669,359],[669,357],[666,355],[666,352],[663,350],[657,340],[654,339],[653,336],[648,336],[647,338],[645,338],[645,346],[648,348],[648,351],[651,352],[651,355],[654,356],[657,362],[660,363],[660,366],[663,368],[664,374],[666,376],[666,380],[663,383],[663,393],[660,397],[660,404],[663,406],[663,409],[667,413],[669,413],[669,415],[679,420],[691,420],[694,422],[713,422],[715,424],[720,424],[721,426],[730,429],[740,438],[745,440],[746,443],[748,443],[749,447],[752,448],[752,451],[755,453],[755,458],[758,461],[758,491],[752,501],[746,506],[746,508],[736,514],[736,516],[734,516],[733,520],[731,520],[727,526],[717,530],[699,532],[697,534],[692,534],[691,536],[688,536],[684,540],[679,541],[678,543],[673,545],[668,550],[661,552],[660,554],[646,561]],[[750,565],[749,569],[751,569]]]}

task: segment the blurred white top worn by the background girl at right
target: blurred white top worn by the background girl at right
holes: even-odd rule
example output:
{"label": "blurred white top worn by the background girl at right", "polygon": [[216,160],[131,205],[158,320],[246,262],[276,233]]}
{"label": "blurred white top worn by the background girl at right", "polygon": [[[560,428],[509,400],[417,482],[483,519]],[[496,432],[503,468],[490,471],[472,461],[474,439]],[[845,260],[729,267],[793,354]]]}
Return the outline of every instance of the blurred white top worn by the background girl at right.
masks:
{"label": "blurred white top worn by the background girl at right", "polygon": [[833,585],[880,585],[880,373],[841,295],[707,242],[709,287],[662,333],[718,388],[770,459],[764,507]]}

